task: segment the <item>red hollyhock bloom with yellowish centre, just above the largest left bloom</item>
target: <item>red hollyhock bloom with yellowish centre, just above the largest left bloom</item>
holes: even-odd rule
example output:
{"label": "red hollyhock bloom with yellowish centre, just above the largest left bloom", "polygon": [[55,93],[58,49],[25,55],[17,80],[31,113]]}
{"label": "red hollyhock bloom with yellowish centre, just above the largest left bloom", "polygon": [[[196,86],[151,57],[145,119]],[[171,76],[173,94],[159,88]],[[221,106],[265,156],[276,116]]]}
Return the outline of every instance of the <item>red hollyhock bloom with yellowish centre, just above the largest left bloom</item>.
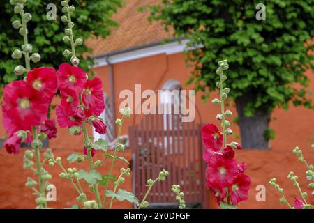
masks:
{"label": "red hollyhock bloom with yellowish centre, just above the largest left bloom", "polygon": [[57,75],[54,68],[34,68],[27,73],[27,84],[40,91],[47,100],[57,93]]}

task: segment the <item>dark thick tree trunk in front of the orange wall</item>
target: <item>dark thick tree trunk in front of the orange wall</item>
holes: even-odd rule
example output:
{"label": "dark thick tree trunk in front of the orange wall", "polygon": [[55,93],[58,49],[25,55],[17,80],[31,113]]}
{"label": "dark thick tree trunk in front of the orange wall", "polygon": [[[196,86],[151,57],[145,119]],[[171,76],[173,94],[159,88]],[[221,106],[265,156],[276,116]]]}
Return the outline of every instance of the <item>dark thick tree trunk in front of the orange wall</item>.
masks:
{"label": "dark thick tree trunk in front of the orange wall", "polygon": [[253,100],[253,97],[246,95],[236,100],[241,145],[243,148],[269,148],[269,140],[265,139],[264,132],[269,128],[271,112],[260,109],[254,113],[253,117],[246,117],[244,115],[244,108],[248,105],[248,102]]}

